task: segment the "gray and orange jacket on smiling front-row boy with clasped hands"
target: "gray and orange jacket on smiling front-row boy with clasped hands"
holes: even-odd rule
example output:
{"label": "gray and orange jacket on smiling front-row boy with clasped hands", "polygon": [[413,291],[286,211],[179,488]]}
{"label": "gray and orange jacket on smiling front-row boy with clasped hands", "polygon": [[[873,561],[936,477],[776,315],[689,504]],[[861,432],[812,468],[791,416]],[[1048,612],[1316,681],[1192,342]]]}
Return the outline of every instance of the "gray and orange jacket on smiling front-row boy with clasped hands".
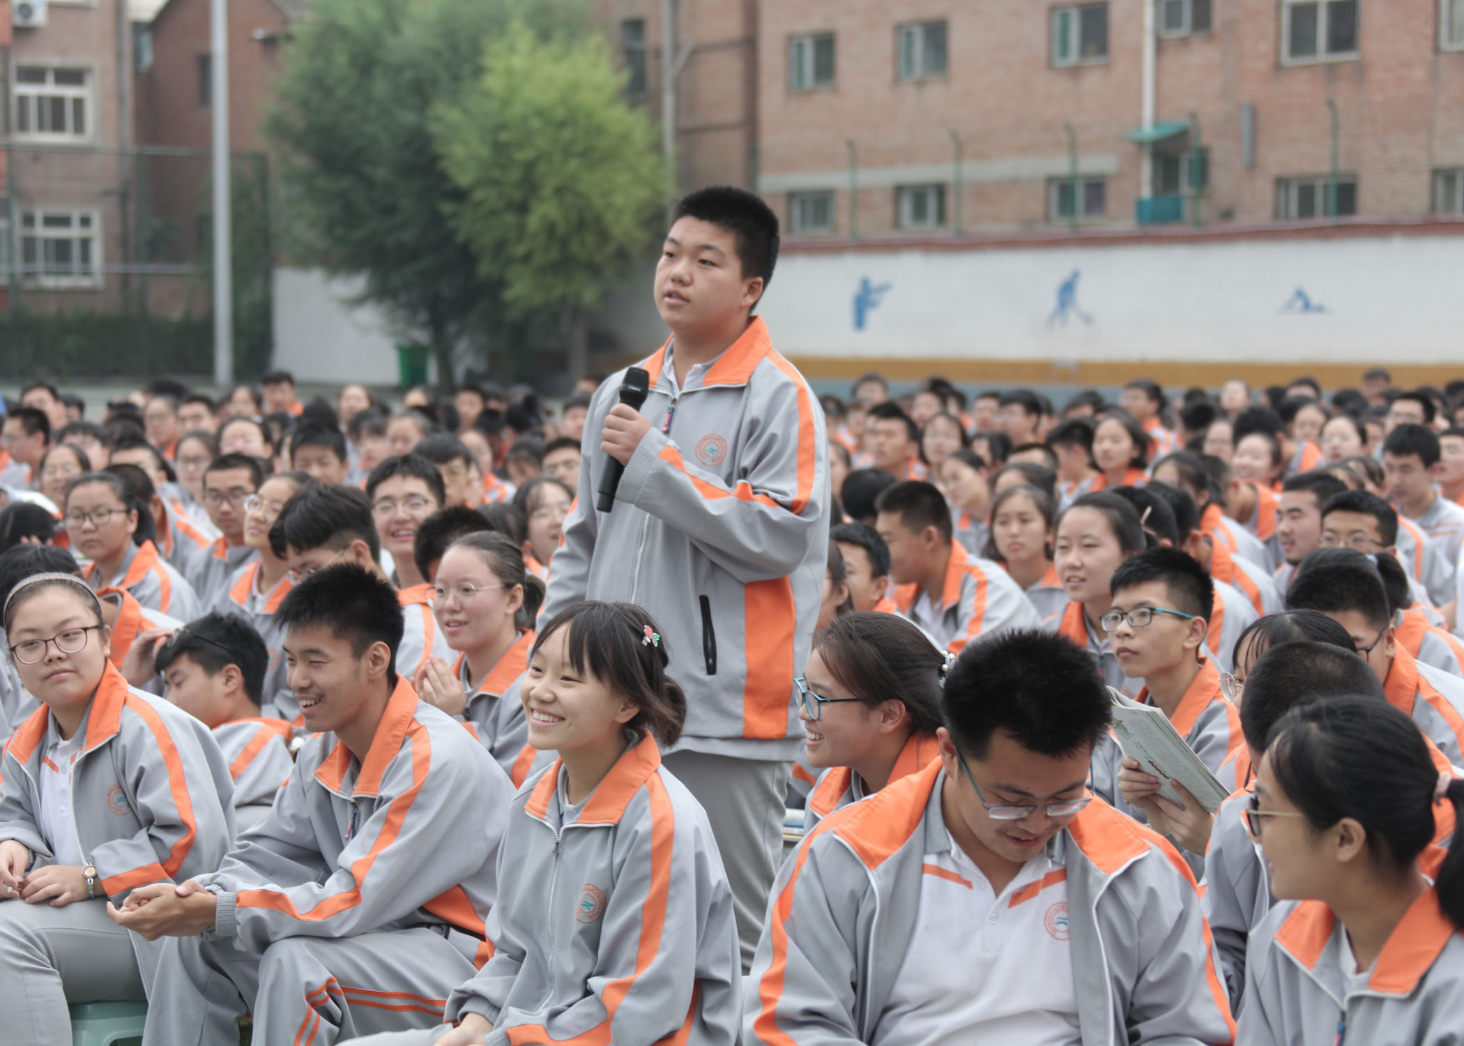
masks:
{"label": "gray and orange jacket on smiling front-row boy with clasped hands", "polygon": [[398,677],[366,759],[335,734],[312,737],[269,815],[198,876],[218,895],[205,936],[259,954],[284,938],[447,926],[482,965],[511,797],[463,724]]}

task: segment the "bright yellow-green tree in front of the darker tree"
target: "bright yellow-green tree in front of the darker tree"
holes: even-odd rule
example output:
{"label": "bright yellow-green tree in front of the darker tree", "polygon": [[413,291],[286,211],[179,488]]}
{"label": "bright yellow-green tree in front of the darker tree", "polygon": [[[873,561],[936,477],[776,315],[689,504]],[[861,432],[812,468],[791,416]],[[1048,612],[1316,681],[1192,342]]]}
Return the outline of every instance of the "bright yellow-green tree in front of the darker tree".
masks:
{"label": "bright yellow-green tree in front of the darker tree", "polygon": [[589,369],[587,311],[660,229],[657,130],[624,89],[600,34],[546,38],[515,21],[430,120],[458,239],[509,318],[568,321],[575,377]]}

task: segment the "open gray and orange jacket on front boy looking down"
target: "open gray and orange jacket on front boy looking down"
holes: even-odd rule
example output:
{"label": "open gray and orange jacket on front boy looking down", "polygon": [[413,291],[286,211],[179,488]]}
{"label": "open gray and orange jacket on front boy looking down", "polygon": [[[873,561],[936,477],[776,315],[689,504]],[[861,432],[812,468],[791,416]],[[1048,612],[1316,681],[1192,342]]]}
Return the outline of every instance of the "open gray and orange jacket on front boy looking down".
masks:
{"label": "open gray and orange jacket on front boy looking down", "polygon": [[[783,863],[744,1043],[871,1042],[915,929],[925,854],[952,845],[944,779],[937,760],[836,810]],[[1174,848],[1097,798],[1048,845],[1066,866],[1083,1046],[1230,1043],[1209,927]]]}

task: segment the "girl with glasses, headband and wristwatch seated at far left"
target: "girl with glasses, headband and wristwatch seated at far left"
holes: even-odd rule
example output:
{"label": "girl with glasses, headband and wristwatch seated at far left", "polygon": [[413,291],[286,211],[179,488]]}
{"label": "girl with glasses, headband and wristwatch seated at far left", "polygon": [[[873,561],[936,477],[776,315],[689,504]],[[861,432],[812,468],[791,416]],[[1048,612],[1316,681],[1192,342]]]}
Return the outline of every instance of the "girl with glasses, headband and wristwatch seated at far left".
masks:
{"label": "girl with glasses, headband and wristwatch seated at far left", "polygon": [[107,900],[218,867],[234,828],[228,763],[208,727],[111,667],[111,630],[79,577],[32,574],[3,621],[41,702],[0,769],[4,1039],[61,1046],[67,1004],[145,998],[161,945],[114,926]]}

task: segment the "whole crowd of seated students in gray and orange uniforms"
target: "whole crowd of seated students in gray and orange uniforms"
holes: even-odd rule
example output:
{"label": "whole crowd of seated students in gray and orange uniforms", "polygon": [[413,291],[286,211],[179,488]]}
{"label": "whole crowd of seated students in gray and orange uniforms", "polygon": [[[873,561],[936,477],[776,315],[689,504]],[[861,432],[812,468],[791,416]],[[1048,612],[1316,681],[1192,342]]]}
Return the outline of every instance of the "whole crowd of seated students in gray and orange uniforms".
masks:
{"label": "whole crowd of seated students in gray and orange uniforms", "polygon": [[[1136,379],[1061,413],[877,375],[824,397],[823,596],[788,680],[805,832],[752,954],[716,822],[662,763],[688,713],[662,624],[540,614],[593,384],[558,423],[471,384],[394,410],[356,384],[303,404],[285,372],[223,403],[160,381],[101,425],[25,390],[0,460],[16,1042],[143,998],[148,1046],[246,1014],[256,1042],[449,1046],[1464,1018],[1464,404],[1378,375],[1173,407]],[[1161,795],[1110,687],[1231,798]]]}

